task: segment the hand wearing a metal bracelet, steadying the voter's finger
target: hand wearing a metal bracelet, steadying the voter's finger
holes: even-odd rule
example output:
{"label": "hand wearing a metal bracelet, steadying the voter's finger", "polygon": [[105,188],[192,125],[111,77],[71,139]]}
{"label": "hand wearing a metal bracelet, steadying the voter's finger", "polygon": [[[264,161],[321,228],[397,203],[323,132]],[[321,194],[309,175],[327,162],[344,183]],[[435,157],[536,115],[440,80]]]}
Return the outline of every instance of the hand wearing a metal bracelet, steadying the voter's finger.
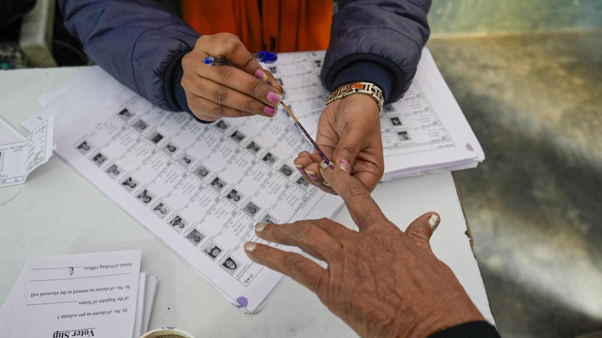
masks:
{"label": "hand wearing a metal bracelet, steadying the voter's finger", "polygon": [[[368,191],[376,187],[384,172],[385,160],[380,112],[370,96],[355,94],[327,105],[318,121],[315,143],[330,161],[358,179]],[[314,149],[312,154],[300,152],[294,163],[307,182],[335,194],[318,170],[321,161]]]}

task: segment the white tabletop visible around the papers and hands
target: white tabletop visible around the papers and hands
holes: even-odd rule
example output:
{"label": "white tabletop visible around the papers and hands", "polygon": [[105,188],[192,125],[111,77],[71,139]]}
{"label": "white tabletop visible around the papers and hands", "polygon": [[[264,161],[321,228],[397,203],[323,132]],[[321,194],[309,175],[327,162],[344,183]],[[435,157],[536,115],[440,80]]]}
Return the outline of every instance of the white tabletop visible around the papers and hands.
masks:
{"label": "white tabletop visible around the papers and hands", "polygon": [[[82,70],[0,72],[0,118],[26,135],[20,121],[40,109],[37,98]],[[433,251],[452,268],[483,316],[493,322],[452,175],[386,182],[377,186],[373,197],[402,229],[424,212],[441,214],[441,225],[431,240]],[[335,221],[353,227],[345,208]],[[142,269],[159,277],[150,328],[170,325],[196,337],[355,336],[315,295],[290,279],[261,312],[244,315],[57,155],[24,184],[0,188],[0,230],[0,301],[28,256],[141,248]]]}

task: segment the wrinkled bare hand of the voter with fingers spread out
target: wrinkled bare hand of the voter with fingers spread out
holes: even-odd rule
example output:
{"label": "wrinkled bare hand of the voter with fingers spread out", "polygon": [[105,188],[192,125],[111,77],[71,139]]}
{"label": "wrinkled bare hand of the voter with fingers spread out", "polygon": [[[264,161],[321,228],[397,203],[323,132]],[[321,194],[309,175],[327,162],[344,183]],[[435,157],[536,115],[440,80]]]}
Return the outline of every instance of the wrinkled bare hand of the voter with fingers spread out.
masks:
{"label": "wrinkled bare hand of the voter with fingers spread out", "polygon": [[327,218],[260,223],[259,238],[299,247],[328,267],[254,242],[244,245],[250,259],[308,287],[362,337],[425,337],[483,321],[452,270],[430,249],[438,214],[424,214],[402,232],[358,180],[340,168],[323,168],[322,175],[343,197],[359,232]]}

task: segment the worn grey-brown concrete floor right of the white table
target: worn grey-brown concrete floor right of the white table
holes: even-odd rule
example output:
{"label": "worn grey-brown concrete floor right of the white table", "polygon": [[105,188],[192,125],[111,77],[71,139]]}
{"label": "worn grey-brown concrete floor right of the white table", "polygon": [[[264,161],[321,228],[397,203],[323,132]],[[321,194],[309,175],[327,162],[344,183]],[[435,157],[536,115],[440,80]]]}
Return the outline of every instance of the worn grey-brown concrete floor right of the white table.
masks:
{"label": "worn grey-brown concrete floor right of the white table", "polygon": [[602,337],[602,31],[429,41],[485,150],[456,173],[504,337]]}

